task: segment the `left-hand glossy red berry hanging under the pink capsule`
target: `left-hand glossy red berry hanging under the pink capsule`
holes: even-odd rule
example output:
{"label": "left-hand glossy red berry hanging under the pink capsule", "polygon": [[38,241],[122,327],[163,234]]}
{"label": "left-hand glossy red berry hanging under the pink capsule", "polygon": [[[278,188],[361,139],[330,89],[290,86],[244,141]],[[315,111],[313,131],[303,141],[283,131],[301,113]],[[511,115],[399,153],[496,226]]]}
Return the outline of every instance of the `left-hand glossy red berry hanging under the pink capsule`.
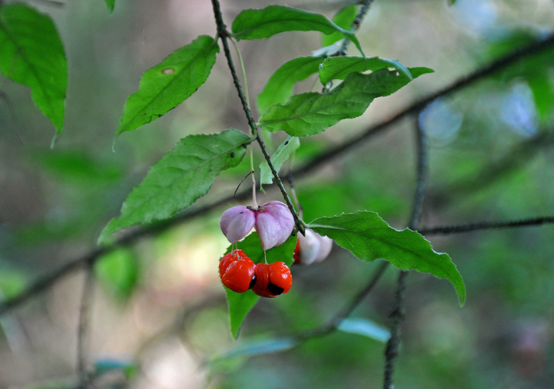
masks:
{"label": "left-hand glossy red berry hanging under the pink capsule", "polygon": [[256,282],[256,265],[243,250],[235,250],[219,262],[219,277],[227,288],[243,293]]}

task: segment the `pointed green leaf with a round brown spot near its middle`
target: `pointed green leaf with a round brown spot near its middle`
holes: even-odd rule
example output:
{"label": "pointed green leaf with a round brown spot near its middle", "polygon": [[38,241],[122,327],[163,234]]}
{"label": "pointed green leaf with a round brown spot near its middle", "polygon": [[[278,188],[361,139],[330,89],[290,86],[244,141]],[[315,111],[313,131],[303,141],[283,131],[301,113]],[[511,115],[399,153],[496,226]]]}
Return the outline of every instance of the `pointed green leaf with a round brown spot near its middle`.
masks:
{"label": "pointed green leaf with a round brown spot near its middle", "polygon": [[216,63],[216,40],[201,35],[145,71],[139,90],[125,102],[116,137],[162,116],[192,95]]}

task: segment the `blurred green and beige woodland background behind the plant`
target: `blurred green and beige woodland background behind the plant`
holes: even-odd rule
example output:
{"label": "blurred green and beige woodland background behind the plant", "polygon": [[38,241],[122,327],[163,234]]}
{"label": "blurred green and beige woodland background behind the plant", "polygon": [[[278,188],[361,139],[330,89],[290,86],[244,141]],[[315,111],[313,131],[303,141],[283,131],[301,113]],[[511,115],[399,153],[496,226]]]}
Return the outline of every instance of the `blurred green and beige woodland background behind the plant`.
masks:
{"label": "blurred green and beige woodland background behind the plant", "polygon": [[[4,298],[93,249],[131,188],[179,139],[229,127],[247,130],[219,54],[196,94],[122,134],[111,151],[125,99],[143,71],[197,35],[215,34],[208,0],[117,0],[111,15],[101,0],[28,4],[54,19],[68,57],[69,88],[64,132],[50,150],[53,126],[33,106],[28,88],[0,78]],[[266,4],[223,0],[225,22],[230,25],[244,8]],[[345,4],[288,2],[329,17]],[[453,7],[446,0],[377,0],[358,32],[366,54],[435,73],[377,99],[362,117],[302,140],[293,168],[500,55],[546,37],[553,21],[550,0],[458,0]],[[282,63],[320,47],[317,33],[239,42],[252,103]],[[429,139],[422,226],[554,214],[553,60],[551,50],[435,100],[419,117],[297,180],[304,219],[368,209],[404,228],[414,191],[416,120]],[[301,83],[297,91],[312,83]],[[275,136],[274,144],[281,139]],[[225,172],[194,207],[232,194],[247,171],[245,161]],[[268,190],[262,197],[279,194]],[[293,289],[260,300],[234,341],[217,273],[227,247],[219,231],[223,209],[96,264],[88,359],[99,374],[113,368],[115,376],[106,377],[103,387],[121,381],[117,371],[129,373],[128,385],[137,388],[381,387],[384,345],[375,336],[335,331],[283,352],[248,357],[254,349],[246,347],[238,356],[227,354],[326,323],[367,284],[378,263],[363,263],[335,246],[324,263],[293,268]],[[428,239],[435,250],[450,254],[468,299],[459,308],[447,281],[410,275],[396,387],[554,387],[554,227]],[[366,330],[387,328],[396,277],[388,269],[350,319],[363,319]],[[81,273],[64,277],[0,318],[0,387],[72,385],[83,279]]]}

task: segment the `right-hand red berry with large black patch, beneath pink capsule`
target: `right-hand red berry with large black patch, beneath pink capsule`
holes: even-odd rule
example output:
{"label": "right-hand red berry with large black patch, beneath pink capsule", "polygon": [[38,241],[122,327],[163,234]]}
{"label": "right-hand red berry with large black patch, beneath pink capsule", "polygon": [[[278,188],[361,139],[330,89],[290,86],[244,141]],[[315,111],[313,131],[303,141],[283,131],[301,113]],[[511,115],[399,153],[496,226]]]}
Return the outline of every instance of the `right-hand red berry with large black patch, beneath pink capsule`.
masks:
{"label": "right-hand red berry with large black patch, beneath pink capsule", "polygon": [[283,262],[271,264],[258,263],[256,265],[255,294],[262,297],[277,297],[287,293],[293,284],[293,276],[290,269]]}

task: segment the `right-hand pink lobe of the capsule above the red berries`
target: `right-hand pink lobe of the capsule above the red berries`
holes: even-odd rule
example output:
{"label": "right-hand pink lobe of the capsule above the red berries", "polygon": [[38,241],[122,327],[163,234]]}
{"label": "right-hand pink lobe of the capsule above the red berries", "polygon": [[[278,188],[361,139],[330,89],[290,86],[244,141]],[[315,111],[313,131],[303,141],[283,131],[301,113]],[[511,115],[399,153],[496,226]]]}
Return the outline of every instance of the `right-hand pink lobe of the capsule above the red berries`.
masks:
{"label": "right-hand pink lobe of the capsule above the red berries", "polygon": [[255,217],[256,231],[264,250],[284,243],[293,232],[293,214],[280,201],[265,203],[258,211],[255,211]]}

